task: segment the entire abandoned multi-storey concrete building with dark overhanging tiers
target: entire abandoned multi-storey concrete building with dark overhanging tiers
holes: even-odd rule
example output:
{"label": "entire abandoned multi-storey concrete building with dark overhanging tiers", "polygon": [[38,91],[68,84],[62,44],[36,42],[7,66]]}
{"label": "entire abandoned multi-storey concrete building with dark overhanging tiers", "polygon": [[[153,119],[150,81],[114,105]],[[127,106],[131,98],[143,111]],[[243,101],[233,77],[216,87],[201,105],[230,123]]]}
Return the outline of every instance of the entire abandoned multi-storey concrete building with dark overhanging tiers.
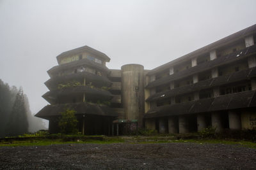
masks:
{"label": "entire abandoned multi-storey concrete building with dark overhanging tiers", "polygon": [[[127,123],[159,133],[205,127],[256,127],[256,25],[163,66],[139,64],[108,69],[109,57],[89,46],[63,52],[47,73],[50,104],[36,117],[59,132],[65,108],[76,110],[83,134],[124,134]],[[172,56],[173,57],[173,56]]]}

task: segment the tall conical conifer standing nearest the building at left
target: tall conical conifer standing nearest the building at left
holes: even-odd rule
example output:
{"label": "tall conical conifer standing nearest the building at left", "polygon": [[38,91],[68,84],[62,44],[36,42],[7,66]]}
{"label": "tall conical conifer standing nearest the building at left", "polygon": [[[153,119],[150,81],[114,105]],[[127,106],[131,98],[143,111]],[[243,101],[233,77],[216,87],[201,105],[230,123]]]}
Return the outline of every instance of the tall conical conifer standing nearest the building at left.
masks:
{"label": "tall conical conifer standing nearest the building at left", "polygon": [[12,112],[6,131],[8,136],[17,136],[19,134],[28,132],[26,106],[23,90],[21,87],[15,97],[15,102],[12,107]]}

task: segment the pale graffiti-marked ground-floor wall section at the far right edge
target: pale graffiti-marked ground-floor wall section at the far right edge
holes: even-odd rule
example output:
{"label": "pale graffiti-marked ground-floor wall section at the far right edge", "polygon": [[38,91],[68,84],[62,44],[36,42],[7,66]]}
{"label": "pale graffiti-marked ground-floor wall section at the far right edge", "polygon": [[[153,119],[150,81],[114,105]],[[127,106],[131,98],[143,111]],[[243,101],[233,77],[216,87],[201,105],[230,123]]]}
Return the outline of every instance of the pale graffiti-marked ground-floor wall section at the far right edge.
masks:
{"label": "pale graffiti-marked ground-floor wall section at the far right edge", "polygon": [[256,110],[244,110],[241,112],[242,129],[256,128]]}

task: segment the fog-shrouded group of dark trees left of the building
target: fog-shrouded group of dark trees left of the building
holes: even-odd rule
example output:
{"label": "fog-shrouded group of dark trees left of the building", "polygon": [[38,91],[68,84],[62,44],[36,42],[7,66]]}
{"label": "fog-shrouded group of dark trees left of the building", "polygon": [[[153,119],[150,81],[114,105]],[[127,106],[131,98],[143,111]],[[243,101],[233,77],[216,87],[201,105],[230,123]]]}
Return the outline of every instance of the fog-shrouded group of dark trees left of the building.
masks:
{"label": "fog-shrouded group of dark trees left of the building", "polygon": [[44,122],[31,114],[28,97],[22,89],[0,79],[0,137],[17,136],[45,129]]}

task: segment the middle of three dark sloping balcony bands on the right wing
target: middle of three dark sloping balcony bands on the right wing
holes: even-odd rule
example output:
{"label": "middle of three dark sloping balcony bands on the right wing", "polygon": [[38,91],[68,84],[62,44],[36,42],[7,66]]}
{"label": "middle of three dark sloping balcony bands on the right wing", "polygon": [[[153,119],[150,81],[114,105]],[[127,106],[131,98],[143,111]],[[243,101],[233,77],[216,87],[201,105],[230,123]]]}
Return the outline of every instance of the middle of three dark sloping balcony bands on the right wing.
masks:
{"label": "middle of three dark sloping balcony bands on the right wing", "polygon": [[250,78],[256,77],[256,67],[252,69],[244,69],[242,71],[237,71],[232,74],[219,76],[216,78],[211,78],[204,81],[199,81],[191,85],[185,85],[183,87],[178,87],[172,90],[156,93],[149,96],[146,101],[156,101],[159,99],[167,99],[169,97],[177,96],[180,94],[186,94],[195,92],[202,89],[208,89],[210,87],[225,85],[227,83],[234,83],[236,81],[250,80]]}

